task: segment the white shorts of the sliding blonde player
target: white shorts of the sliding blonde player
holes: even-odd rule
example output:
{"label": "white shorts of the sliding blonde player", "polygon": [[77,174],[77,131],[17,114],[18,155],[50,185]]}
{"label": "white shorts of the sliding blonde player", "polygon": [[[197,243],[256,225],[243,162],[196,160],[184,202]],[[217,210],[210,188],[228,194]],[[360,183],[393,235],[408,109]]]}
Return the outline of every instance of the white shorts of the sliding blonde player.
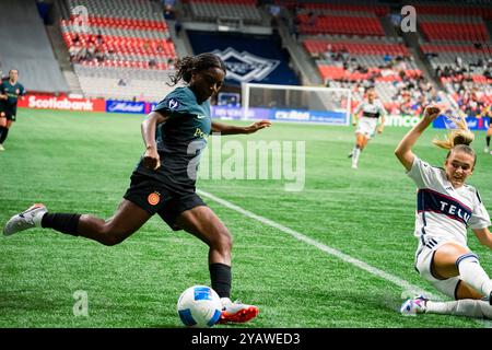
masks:
{"label": "white shorts of the sliding blonde player", "polygon": [[441,280],[432,275],[431,266],[434,259],[434,254],[438,247],[449,243],[448,240],[440,240],[436,237],[425,237],[425,245],[422,242],[415,253],[415,269],[420,276],[430,282],[436,290],[446,294],[449,298],[456,299],[456,288],[460,281],[459,276]]}

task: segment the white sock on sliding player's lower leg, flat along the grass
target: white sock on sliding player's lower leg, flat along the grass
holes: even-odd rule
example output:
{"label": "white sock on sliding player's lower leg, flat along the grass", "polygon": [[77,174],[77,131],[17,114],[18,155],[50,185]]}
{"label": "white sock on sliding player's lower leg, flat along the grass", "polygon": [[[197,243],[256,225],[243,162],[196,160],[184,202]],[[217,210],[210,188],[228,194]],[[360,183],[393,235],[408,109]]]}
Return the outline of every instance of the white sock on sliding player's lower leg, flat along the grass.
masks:
{"label": "white sock on sliding player's lower leg, flat along the grass", "polygon": [[492,306],[483,300],[473,299],[462,299],[454,302],[427,301],[425,303],[425,313],[492,319]]}

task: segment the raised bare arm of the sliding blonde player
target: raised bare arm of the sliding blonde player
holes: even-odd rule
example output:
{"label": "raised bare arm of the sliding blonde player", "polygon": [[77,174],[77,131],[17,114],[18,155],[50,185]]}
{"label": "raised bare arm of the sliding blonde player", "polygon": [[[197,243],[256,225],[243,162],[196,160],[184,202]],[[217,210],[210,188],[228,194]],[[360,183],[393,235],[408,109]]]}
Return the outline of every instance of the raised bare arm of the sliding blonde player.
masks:
{"label": "raised bare arm of the sliding blonde player", "polygon": [[400,143],[395,150],[395,155],[407,171],[410,171],[415,155],[412,152],[412,147],[420,138],[422,132],[434,121],[440,115],[441,109],[436,106],[426,106],[423,118],[401,139]]}

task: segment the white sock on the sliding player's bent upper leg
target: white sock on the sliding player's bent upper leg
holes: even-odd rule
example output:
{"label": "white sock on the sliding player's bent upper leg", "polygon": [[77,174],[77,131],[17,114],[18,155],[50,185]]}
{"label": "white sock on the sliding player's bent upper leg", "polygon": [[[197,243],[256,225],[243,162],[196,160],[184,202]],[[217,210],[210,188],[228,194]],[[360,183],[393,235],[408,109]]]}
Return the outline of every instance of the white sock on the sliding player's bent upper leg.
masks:
{"label": "white sock on the sliding player's bent upper leg", "polygon": [[492,281],[489,275],[480,266],[478,257],[472,254],[465,254],[456,260],[460,279],[473,288],[477,292],[489,296],[492,292]]}

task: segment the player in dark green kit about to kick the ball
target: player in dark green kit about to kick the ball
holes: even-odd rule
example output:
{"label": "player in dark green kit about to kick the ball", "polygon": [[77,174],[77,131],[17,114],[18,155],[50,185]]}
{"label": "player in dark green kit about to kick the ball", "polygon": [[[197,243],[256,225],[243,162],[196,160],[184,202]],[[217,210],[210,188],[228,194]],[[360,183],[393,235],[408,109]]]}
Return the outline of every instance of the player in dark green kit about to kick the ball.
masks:
{"label": "player in dark green kit about to kick the ball", "polygon": [[50,213],[34,205],[5,224],[10,235],[32,228],[54,229],[83,236],[104,245],[115,245],[139,230],[157,213],[173,230],[185,230],[209,246],[211,287],[221,296],[220,322],[247,322],[258,307],[233,303],[231,293],[232,236],[216,214],[196,194],[196,168],[213,132],[253,133],[269,127],[266,120],[247,127],[212,121],[209,98],[216,94],[225,78],[224,62],[213,54],[185,57],[172,77],[174,84],[184,80],[159,103],[142,122],[145,152],[131,175],[131,184],[116,213],[108,220],[87,214]]}

